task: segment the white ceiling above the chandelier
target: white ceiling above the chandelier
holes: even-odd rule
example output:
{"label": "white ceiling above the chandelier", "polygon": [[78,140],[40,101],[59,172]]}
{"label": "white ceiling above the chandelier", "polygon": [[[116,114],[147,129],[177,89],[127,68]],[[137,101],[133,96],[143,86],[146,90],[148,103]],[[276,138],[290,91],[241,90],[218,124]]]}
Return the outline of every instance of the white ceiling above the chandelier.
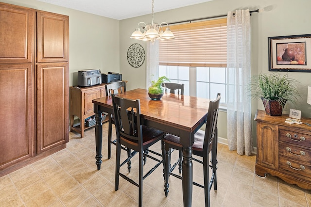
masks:
{"label": "white ceiling above the chandelier", "polygon": [[[126,19],[151,14],[152,0],[38,0],[70,9],[105,16]],[[155,0],[154,12],[162,12],[211,0]]]}

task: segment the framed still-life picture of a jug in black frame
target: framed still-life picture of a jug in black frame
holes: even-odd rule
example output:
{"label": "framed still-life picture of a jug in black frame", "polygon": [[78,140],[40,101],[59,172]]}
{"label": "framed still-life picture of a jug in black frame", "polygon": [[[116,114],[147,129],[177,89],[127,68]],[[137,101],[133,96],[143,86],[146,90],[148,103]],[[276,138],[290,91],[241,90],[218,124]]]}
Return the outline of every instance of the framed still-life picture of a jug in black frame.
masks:
{"label": "framed still-life picture of a jug in black frame", "polygon": [[268,37],[269,71],[311,72],[311,34]]}

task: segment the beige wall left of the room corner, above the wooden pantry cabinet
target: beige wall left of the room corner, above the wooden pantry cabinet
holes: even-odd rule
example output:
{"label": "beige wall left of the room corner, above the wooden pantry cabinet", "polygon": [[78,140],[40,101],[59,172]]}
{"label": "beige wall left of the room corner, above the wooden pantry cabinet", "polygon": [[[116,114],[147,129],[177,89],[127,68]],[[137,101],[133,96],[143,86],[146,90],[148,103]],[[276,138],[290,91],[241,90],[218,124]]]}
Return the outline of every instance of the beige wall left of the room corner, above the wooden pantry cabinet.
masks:
{"label": "beige wall left of the room corner, above the wooden pantry cabinet", "polygon": [[119,20],[37,0],[0,1],[69,16],[69,86],[77,84],[78,70],[119,72]]}

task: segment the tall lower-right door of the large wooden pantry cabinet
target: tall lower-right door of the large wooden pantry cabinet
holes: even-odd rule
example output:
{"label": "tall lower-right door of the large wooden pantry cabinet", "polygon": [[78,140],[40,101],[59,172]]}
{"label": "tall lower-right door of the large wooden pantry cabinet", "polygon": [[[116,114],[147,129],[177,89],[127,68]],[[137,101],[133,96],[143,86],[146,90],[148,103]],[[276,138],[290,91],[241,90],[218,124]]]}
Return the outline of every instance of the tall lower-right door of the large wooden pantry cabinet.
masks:
{"label": "tall lower-right door of the large wooden pantry cabinet", "polygon": [[37,65],[37,153],[69,139],[68,63]]}

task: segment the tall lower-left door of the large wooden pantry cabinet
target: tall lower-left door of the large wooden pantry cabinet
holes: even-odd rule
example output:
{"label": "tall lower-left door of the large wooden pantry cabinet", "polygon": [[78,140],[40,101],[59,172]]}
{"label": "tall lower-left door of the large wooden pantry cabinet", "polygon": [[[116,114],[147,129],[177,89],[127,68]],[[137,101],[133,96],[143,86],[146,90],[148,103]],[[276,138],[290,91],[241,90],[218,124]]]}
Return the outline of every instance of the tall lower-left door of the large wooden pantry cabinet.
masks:
{"label": "tall lower-left door of the large wooden pantry cabinet", "polygon": [[0,65],[0,170],[34,154],[33,67]]}

